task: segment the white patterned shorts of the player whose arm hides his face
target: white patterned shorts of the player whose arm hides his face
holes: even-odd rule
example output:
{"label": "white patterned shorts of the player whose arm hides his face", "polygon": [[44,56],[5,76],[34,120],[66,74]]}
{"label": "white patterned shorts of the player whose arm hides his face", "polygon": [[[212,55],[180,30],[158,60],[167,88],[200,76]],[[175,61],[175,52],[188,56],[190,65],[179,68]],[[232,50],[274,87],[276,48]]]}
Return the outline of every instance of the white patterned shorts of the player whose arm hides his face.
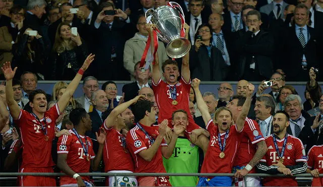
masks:
{"label": "white patterned shorts of the player whose arm hides his face", "polygon": [[[115,170],[108,173],[132,173],[131,171]],[[109,186],[138,186],[138,182],[135,176],[117,176],[117,182],[115,182],[115,176],[109,176]]]}

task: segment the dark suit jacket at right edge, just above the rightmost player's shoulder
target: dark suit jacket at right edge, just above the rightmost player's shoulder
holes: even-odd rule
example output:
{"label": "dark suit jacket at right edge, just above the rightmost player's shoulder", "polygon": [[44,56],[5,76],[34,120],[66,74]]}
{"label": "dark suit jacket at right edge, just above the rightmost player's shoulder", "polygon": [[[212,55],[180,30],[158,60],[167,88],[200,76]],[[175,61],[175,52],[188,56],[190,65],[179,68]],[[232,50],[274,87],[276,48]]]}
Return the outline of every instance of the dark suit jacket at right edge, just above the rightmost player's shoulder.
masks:
{"label": "dark suit jacket at right edge, just above the rightmost player's shoulder", "polygon": [[313,125],[315,116],[309,117],[304,122],[304,127],[299,135],[299,139],[306,145],[306,153],[309,149],[314,145],[322,145],[323,144],[323,135],[318,136],[318,127],[315,129],[315,133],[313,133],[311,126]]}

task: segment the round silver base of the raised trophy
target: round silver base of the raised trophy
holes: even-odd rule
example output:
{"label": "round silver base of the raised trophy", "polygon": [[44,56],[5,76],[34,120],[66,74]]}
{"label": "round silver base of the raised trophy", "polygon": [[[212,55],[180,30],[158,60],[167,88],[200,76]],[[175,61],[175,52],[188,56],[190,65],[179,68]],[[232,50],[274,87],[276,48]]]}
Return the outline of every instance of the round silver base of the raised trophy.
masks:
{"label": "round silver base of the raised trophy", "polygon": [[167,44],[166,52],[171,58],[180,58],[185,56],[191,49],[191,43],[188,39],[178,38]]}

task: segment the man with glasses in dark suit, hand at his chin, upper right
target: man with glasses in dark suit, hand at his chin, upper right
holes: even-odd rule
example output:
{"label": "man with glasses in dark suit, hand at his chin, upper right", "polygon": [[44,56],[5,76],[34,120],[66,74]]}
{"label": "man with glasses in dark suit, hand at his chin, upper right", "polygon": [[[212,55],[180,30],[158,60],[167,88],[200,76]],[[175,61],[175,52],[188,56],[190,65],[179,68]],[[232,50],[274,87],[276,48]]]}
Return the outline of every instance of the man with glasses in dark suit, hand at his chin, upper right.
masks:
{"label": "man with glasses in dark suit, hand at his chin, upper right", "polygon": [[239,78],[260,81],[273,74],[274,42],[270,33],[260,30],[261,23],[258,11],[248,12],[248,31],[237,41],[240,60],[236,68]]}

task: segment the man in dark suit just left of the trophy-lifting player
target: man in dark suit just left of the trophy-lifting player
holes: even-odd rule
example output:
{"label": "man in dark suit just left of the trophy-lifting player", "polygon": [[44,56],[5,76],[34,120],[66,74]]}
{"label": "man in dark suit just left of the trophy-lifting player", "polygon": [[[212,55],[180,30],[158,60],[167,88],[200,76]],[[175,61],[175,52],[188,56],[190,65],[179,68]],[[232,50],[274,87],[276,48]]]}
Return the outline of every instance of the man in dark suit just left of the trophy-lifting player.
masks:
{"label": "man in dark suit just left of the trophy-lifting player", "polygon": [[135,65],[135,78],[136,81],[133,83],[125,84],[122,87],[122,92],[125,94],[124,101],[127,102],[130,99],[135,98],[138,95],[138,91],[143,87],[151,87],[148,84],[148,80],[151,78],[150,67],[144,70],[144,67],[139,68],[140,61]]}

